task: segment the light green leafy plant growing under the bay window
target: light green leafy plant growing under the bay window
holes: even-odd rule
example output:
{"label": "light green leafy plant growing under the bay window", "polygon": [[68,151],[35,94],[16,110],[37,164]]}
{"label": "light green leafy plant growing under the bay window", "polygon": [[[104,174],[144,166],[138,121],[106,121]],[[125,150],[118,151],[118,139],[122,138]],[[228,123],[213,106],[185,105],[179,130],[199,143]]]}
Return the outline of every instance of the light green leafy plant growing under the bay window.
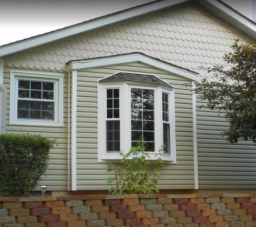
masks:
{"label": "light green leafy plant growing under the bay window", "polygon": [[153,194],[159,193],[156,185],[161,179],[158,166],[164,166],[161,159],[164,146],[155,155],[156,160],[150,160],[150,154],[145,151],[147,144],[141,140],[138,146],[130,148],[128,153],[120,153],[122,166],[110,163],[107,172],[114,171],[114,178],[108,179],[111,186],[109,193],[121,194]]}

